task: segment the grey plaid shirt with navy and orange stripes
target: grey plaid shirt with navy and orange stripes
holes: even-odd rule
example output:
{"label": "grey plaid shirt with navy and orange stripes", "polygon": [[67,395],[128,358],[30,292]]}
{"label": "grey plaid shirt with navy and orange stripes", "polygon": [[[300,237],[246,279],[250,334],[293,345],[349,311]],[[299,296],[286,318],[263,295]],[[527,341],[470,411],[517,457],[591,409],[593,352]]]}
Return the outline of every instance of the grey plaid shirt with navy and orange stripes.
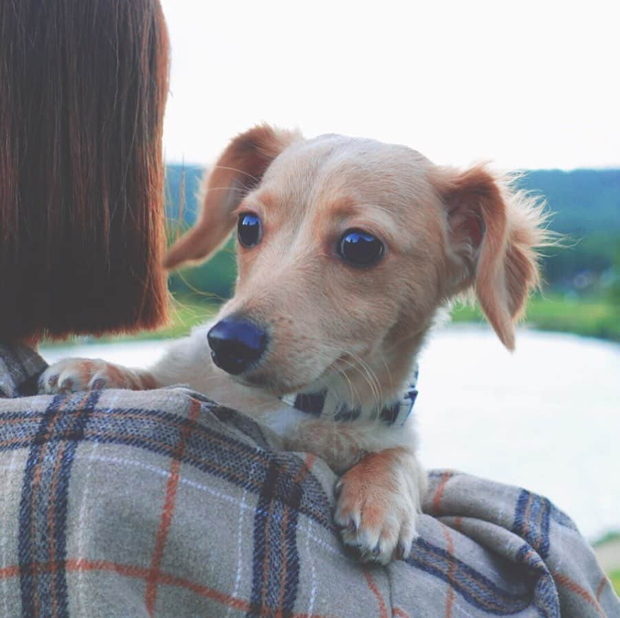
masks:
{"label": "grey plaid shirt with navy and orange stripes", "polygon": [[[0,355],[5,396],[44,366]],[[0,466],[7,617],[620,617],[568,517],[458,472],[430,472],[406,560],[359,564],[333,472],[184,388],[0,399]]]}

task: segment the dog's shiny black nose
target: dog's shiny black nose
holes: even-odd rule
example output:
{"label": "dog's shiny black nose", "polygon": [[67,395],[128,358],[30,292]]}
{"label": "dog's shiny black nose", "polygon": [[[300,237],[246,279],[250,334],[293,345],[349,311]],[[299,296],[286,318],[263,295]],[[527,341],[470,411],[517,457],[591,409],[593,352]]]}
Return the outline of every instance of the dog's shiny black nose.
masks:
{"label": "dog's shiny black nose", "polygon": [[213,362],[237,375],[255,363],[267,347],[267,333],[239,318],[224,318],[207,333]]}

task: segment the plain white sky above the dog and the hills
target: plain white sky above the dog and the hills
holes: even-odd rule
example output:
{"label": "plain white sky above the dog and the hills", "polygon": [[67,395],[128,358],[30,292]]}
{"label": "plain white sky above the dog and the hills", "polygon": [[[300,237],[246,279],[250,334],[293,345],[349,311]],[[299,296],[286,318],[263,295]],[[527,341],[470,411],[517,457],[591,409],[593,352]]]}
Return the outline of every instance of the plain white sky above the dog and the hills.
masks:
{"label": "plain white sky above the dog and the hills", "polygon": [[168,162],[257,122],[438,164],[620,167],[620,3],[162,0]]}

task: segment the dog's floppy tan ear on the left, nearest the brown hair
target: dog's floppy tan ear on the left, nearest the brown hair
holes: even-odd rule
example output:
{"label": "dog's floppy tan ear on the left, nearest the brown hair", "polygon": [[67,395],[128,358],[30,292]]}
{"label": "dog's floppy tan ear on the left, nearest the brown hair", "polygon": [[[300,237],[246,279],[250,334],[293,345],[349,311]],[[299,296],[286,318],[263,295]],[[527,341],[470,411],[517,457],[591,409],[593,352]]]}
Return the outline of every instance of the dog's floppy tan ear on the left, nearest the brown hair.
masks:
{"label": "dog's floppy tan ear on the left, nearest the brown hair", "polygon": [[201,191],[202,211],[194,227],[181,236],[164,258],[164,267],[204,261],[232,232],[232,214],[247,192],[260,183],[272,161],[301,137],[297,131],[260,124],[237,135],[206,173]]}

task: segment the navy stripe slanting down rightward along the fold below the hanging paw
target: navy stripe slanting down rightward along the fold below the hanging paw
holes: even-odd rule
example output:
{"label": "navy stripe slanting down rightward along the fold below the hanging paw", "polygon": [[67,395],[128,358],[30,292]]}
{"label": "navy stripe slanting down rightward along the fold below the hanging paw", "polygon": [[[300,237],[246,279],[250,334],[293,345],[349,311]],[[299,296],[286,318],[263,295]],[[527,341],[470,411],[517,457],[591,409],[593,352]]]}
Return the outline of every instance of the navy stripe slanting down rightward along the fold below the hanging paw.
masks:
{"label": "navy stripe slanting down rightward along the fold below the hanging paw", "polygon": [[422,538],[414,542],[406,562],[439,577],[467,602],[491,615],[516,614],[530,604],[531,593],[513,594],[503,590],[469,564]]}

